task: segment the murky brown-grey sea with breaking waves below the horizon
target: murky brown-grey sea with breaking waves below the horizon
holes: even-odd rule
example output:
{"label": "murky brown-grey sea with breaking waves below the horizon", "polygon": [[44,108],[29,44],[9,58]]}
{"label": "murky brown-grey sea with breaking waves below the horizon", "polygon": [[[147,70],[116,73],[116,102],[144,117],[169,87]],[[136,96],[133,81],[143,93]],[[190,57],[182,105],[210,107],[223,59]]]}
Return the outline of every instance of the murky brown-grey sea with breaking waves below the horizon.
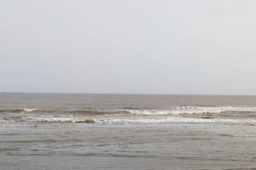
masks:
{"label": "murky brown-grey sea with breaking waves below the horizon", "polygon": [[0,170],[255,170],[256,96],[0,94]]}

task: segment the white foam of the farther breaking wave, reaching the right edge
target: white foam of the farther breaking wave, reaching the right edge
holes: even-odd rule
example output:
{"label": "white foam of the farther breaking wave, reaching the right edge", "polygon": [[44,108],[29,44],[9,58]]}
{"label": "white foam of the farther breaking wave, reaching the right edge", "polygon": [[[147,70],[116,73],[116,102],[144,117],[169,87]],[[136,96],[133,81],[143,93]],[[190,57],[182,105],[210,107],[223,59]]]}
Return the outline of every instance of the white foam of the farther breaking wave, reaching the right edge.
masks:
{"label": "white foam of the farther breaking wave, reaching the right edge", "polygon": [[256,108],[251,107],[170,107],[170,110],[125,110],[133,115],[179,115],[179,114],[193,114],[193,113],[220,113],[224,111],[237,111],[237,112],[255,112]]}

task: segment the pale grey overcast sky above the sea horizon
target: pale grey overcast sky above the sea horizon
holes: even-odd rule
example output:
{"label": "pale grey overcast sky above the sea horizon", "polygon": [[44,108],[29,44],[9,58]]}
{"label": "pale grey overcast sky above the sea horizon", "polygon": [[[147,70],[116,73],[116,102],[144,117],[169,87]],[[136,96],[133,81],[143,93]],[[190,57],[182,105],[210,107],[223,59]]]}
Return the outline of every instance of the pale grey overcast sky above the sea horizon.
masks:
{"label": "pale grey overcast sky above the sea horizon", "polygon": [[255,0],[0,0],[0,91],[256,95]]}

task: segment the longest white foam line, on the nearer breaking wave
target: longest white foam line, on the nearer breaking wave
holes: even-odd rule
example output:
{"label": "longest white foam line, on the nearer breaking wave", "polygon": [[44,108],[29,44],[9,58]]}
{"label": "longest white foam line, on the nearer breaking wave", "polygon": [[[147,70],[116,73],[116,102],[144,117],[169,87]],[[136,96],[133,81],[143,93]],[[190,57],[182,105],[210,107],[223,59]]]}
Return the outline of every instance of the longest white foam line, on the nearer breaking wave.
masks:
{"label": "longest white foam line, on the nearer breaking wave", "polygon": [[26,117],[28,120],[47,121],[47,122],[79,122],[79,123],[228,123],[228,124],[256,124],[254,119],[202,119],[189,117],[168,117],[152,119],[74,119],[66,117]]}

